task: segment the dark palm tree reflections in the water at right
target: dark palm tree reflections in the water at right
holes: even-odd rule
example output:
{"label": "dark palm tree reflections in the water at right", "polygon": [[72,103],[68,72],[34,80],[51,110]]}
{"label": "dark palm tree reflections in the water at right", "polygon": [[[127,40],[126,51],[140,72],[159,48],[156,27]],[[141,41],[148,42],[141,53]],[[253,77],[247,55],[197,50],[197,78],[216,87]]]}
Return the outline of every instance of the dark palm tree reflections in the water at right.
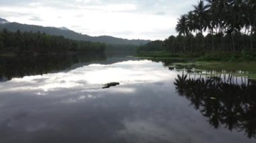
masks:
{"label": "dark palm tree reflections in the water at right", "polygon": [[224,125],[230,131],[255,138],[256,81],[226,74],[207,77],[183,73],[174,85],[179,95],[189,99],[214,128]]}

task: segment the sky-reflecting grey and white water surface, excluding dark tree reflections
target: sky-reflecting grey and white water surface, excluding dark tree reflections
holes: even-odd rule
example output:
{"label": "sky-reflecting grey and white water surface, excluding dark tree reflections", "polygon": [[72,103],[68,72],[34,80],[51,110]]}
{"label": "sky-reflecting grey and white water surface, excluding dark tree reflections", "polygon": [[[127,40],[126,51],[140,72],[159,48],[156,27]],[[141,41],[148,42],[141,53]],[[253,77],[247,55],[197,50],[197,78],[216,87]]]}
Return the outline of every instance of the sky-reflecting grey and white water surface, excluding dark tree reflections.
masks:
{"label": "sky-reflecting grey and white water surface, excluding dark tree reflections", "polygon": [[[174,82],[181,72],[162,62],[126,56],[78,59],[48,74],[26,73],[0,83],[0,142],[255,142],[244,131],[210,127],[189,100],[177,95]],[[102,89],[110,82],[120,85]],[[245,87],[248,83],[243,79]],[[243,121],[249,121],[245,114]]]}

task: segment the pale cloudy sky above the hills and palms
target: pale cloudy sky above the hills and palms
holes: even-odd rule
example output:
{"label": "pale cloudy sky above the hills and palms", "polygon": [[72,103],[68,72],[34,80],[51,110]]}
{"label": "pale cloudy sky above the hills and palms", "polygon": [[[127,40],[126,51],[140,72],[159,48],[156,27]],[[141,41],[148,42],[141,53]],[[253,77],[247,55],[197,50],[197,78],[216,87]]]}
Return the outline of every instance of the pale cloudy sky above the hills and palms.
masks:
{"label": "pale cloudy sky above the hills and palms", "polygon": [[90,36],[164,40],[197,0],[0,0],[0,17]]}

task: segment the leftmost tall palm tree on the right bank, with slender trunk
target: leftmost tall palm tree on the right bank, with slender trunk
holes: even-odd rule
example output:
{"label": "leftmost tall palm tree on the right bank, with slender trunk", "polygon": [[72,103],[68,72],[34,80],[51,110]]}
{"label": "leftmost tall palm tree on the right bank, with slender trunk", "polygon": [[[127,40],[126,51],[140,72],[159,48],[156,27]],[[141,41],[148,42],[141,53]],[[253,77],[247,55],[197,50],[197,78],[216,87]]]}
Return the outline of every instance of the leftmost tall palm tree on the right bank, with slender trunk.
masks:
{"label": "leftmost tall palm tree on the right bank, with slender trunk", "polygon": [[177,23],[177,26],[176,26],[175,30],[180,35],[183,35],[183,52],[185,52],[186,51],[185,36],[189,32],[188,26],[187,26],[187,15],[181,15],[181,17],[178,19],[178,23]]}

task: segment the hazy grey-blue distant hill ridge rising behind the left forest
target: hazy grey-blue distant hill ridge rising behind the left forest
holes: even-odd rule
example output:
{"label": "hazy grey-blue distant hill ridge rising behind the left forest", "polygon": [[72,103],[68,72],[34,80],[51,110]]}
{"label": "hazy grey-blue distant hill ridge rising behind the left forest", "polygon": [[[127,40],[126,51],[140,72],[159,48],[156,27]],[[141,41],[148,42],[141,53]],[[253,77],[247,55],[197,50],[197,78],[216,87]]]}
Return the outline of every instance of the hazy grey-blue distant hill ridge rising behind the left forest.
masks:
{"label": "hazy grey-blue distant hill ridge rising behind the left forest", "polygon": [[46,33],[53,36],[64,36],[65,38],[69,38],[72,40],[84,40],[90,42],[102,42],[106,44],[133,44],[133,45],[143,45],[150,40],[127,40],[122,38],[115,38],[112,36],[88,36],[86,34],[79,34],[77,32],[73,32],[71,30],[61,30],[61,28],[52,28],[52,27],[42,27],[42,26],[33,26],[27,24],[21,24],[16,22],[10,23],[2,23],[0,24],[0,30],[6,28],[11,32],[17,32],[20,30],[21,32],[38,32]]}

